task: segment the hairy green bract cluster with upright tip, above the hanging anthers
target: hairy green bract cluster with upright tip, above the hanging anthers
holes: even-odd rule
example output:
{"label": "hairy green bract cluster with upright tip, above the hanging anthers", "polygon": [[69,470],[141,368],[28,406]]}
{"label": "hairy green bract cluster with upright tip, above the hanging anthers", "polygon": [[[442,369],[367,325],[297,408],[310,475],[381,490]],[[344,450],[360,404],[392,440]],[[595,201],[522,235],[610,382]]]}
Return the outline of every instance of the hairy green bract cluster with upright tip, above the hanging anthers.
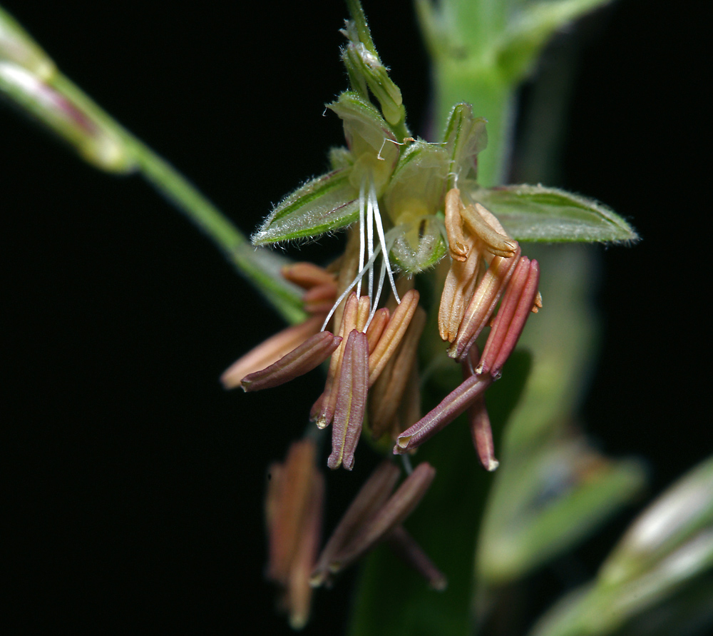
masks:
{"label": "hairy green bract cluster with upright tip, above the hanging anthers", "polygon": [[[357,17],[363,20],[363,14]],[[360,208],[366,210],[373,191],[376,213],[386,211],[389,256],[401,271],[417,273],[447,252],[443,205],[451,188],[488,208],[518,241],[637,239],[624,219],[588,198],[539,185],[479,187],[478,153],[488,143],[486,120],[473,116],[470,104],[457,104],[442,141],[409,136],[401,91],[381,63],[366,23],[349,21],[342,32],[348,40],[342,60],[352,89],[327,108],[342,120],[347,148],[332,148],[333,171],[279,203],[252,237],[255,245],[349,226],[360,218]]]}

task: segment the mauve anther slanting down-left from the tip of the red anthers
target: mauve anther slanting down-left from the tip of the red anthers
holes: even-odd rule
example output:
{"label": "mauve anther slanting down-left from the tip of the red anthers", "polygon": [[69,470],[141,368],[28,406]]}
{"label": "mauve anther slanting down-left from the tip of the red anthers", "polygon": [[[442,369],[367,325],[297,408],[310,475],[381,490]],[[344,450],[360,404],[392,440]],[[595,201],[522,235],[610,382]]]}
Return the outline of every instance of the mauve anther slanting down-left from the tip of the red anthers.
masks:
{"label": "mauve anther slanting down-left from the tip of the red anthers", "polygon": [[434,410],[399,435],[394,446],[394,455],[407,453],[436,435],[472,405],[478,395],[482,395],[492,383],[493,378],[489,375],[471,375],[456,390],[448,393]]}

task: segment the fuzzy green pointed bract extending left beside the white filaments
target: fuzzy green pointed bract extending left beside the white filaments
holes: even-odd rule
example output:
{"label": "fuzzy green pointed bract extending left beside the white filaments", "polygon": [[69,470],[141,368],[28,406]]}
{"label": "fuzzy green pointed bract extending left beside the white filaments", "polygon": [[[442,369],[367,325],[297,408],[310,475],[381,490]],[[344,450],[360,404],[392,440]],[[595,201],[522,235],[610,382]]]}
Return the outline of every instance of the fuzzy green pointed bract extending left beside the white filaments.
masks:
{"label": "fuzzy green pointed bract extending left beside the white filaments", "polygon": [[337,170],[307,181],[270,213],[252,236],[253,245],[318,236],[348,226],[359,218],[359,200],[349,183],[349,170]]}

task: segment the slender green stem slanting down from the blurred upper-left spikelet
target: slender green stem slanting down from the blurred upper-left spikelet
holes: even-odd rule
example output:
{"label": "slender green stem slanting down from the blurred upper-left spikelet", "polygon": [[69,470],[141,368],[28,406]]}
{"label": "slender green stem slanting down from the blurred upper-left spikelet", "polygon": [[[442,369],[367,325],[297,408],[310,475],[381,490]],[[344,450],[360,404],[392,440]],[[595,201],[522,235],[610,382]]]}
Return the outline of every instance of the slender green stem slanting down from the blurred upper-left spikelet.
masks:
{"label": "slender green stem slanting down from the blurred upper-left spikelet", "polygon": [[62,74],[51,85],[121,143],[135,169],[210,238],[235,269],[290,323],[304,320],[298,294],[279,276],[282,259],[254,248],[247,237],[180,172],[125,130]]}

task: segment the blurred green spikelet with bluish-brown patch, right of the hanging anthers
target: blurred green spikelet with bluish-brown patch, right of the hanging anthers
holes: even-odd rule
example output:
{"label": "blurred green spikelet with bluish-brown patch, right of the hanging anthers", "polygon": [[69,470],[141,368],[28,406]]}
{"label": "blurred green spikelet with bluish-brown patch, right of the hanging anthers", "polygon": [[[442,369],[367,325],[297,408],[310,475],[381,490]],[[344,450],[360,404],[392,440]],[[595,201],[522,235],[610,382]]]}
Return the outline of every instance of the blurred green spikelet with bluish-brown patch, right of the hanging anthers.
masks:
{"label": "blurred green spikelet with bluish-brown patch, right of the hanging anthers", "polygon": [[523,577],[569,550],[645,483],[634,460],[610,461],[584,440],[556,442],[524,461],[508,456],[493,488],[478,547],[478,575],[489,586]]}

